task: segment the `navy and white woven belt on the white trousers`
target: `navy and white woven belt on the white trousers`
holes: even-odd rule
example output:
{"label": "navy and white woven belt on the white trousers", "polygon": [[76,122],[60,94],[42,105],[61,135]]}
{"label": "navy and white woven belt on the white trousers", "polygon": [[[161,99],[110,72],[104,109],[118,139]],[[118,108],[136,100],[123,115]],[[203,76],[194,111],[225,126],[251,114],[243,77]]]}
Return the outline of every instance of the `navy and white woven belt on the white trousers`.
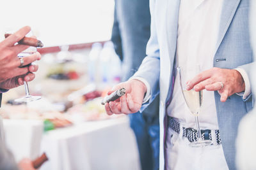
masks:
{"label": "navy and white woven belt on the white trousers", "polygon": [[[180,133],[180,123],[176,122],[174,118],[168,117],[168,126],[178,134]],[[220,139],[219,130],[209,130],[209,129],[201,130],[202,139],[212,141],[212,132],[215,134],[216,143],[220,145],[221,139]],[[185,138],[188,138],[189,142],[194,142],[194,141],[197,141],[198,139],[196,129],[193,129],[191,127],[189,128],[182,127],[182,136]]]}

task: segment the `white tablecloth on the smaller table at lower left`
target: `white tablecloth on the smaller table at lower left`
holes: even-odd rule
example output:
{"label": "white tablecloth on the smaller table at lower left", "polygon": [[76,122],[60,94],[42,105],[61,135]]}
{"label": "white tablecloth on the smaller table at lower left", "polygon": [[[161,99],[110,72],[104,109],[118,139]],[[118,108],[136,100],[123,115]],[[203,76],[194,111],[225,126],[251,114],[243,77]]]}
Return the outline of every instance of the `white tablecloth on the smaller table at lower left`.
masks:
{"label": "white tablecloth on the smaller table at lower left", "polygon": [[36,159],[40,155],[40,143],[44,124],[40,120],[3,119],[6,145],[13,152],[15,160]]}

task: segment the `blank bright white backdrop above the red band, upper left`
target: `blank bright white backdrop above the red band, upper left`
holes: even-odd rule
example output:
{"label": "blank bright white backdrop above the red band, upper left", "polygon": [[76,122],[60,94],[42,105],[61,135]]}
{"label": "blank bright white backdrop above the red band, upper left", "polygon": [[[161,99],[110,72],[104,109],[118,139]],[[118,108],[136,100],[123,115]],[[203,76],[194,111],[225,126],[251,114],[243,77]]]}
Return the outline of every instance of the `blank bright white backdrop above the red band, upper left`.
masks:
{"label": "blank bright white backdrop above the red band, upper left", "polygon": [[29,25],[45,46],[106,41],[111,37],[114,6],[114,0],[1,1],[0,31]]}

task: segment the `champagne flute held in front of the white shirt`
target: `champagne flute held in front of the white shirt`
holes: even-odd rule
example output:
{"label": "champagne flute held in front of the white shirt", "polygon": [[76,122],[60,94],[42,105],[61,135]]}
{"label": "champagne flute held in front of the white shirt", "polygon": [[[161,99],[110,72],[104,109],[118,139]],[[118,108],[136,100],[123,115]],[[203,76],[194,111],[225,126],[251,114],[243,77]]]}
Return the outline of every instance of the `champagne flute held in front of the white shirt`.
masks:
{"label": "champagne flute held in front of the white shirt", "polygon": [[177,67],[177,72],[180,79],[180,87],[181,87],[184,99],[186,101],[186,104],[189,110],[191,111],[191,113],[195,116],[197,140],[192,143],[189,143],[189,146],[203,147],[203,146],[212,145],[211,140],[202,139],[202,133],[200,130],[200,124],[199,124],[199,118],[198,118],[200,113],[200,108],[202,107],[203,90],[196,92],[194,89],[191,89],[191,90],[186,89],[188,80],[191,80],[201,72],[200,66],[191,66],[186,68]]}

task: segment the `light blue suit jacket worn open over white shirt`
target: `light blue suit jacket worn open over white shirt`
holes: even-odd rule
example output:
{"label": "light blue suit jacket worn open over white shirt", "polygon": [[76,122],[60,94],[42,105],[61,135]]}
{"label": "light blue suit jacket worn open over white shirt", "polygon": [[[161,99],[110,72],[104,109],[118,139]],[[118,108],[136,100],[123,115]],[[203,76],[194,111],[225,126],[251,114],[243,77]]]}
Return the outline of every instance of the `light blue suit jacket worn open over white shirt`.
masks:
{"label": "light blue suit jacket worn open over white shirt", "polygon": [[[166,106],[172,96],[173,65],[175,59],[180,0],[151,0],[151,36],[147,45],[147,57],[134,76],[145,78],[150,84],[151,98],[160,92],[160,169],[164,169],[164,141],[166,130]],[[253,61],[248,30],[248,0],[224,0],[221,13],[220,32],[214,67],[234,69],[243,67],[247,72]],[[218,60],[225,59],[225,60]],[[141,111],[148,103],[143,104]],[[252,96],[245,100],[236,94],[220,102],[215,92],[215,103],[225,158],[230,169],[235,166],[235,140],[237,125],[241,118],[252,109]]]}

